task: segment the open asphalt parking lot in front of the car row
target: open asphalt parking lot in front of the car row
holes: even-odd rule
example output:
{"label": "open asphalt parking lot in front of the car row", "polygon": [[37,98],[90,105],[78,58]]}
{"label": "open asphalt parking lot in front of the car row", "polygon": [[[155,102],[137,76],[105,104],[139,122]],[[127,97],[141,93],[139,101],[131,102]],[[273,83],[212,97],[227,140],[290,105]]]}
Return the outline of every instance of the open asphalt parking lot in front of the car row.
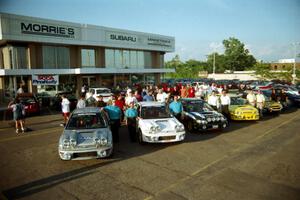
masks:
{"label": "open asphalt parking lot in front of the car row", "polygon": [[125,127],[111,159],[61,161],[61,116],[0,122],[3,199],[300,199],[300,110],[185,142],[139,145]]}

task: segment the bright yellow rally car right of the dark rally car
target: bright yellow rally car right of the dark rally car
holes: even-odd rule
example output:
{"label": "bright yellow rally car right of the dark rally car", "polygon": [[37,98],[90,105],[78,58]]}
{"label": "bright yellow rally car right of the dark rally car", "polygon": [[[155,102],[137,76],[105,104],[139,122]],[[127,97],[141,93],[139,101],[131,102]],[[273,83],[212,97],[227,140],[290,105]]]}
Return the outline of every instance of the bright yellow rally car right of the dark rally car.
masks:
{"label": "bright yellow rally car right of the dark rally car", "polygon": [[259,120],[258,110],[241,97],[230,97],[229,115],[232,120]]}

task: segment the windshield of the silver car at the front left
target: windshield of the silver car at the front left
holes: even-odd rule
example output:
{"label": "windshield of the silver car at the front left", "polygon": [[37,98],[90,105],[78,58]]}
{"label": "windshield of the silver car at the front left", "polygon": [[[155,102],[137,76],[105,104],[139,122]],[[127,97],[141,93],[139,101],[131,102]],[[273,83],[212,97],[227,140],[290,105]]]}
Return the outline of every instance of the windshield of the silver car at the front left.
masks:
{"label": "windshield of the silver car at the front left", "polygon": [[105,128],[107,124],[101,113],[73,114],[66,126],[67,130]]}

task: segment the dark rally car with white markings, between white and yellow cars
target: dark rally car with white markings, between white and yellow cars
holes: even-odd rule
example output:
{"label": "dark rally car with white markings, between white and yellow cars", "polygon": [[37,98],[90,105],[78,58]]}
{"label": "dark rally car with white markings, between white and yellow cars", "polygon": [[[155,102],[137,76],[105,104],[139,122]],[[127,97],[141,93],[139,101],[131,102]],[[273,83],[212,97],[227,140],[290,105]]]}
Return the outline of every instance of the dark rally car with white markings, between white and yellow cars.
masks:
{"label": "dark rally car with white markings, between white and yellow cars", "polygon": [[188,131],[205,131],[210,129],[224,129],[228,121],[221,113],[215,111],[208,103],[196,98],[182,98],[183,123]]}

